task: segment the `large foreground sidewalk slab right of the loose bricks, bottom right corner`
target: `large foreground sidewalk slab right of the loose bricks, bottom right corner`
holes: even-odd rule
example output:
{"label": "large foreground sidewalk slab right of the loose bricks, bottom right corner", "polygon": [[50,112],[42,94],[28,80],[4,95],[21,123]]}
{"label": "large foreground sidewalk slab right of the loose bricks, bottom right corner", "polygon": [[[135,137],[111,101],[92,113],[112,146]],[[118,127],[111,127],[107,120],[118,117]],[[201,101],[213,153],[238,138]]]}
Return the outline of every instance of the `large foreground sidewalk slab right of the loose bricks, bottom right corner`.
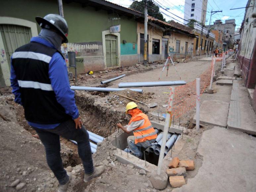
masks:
{"label": "large foreground sidewalk slab right of the loose bricks, bottom right corner", "polygon": [[217,126],[204,131],[197,148],[202,167],[173,192],[256,191],[255,146],[256,138],[246,133]]}

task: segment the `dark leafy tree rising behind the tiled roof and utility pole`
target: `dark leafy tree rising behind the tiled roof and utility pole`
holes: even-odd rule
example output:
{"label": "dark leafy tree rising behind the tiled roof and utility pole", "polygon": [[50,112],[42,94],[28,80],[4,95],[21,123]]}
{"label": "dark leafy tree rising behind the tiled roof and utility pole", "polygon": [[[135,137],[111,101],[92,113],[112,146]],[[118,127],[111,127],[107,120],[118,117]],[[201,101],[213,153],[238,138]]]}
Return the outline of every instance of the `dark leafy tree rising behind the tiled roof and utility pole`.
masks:
{"label": "dark leafy tree rising behind the tiled roof and utility pole", "polygon": [[[148,0],[147,5],[148,5],[148,15],[149,16],[166,22],[164,16],[159,12],[159,7],[157,5],[155,5],[153,3],[153,1]],[[145,0],[133,1],[132,4],[130,5],[130,8],[144,14]]]}

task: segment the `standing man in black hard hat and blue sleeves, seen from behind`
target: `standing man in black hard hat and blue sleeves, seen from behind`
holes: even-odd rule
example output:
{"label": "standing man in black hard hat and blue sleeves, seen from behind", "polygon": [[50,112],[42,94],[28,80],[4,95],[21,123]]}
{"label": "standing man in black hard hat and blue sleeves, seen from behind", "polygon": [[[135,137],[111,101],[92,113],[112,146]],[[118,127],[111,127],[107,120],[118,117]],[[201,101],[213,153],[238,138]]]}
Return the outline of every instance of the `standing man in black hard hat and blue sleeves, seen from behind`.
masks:
{"label": "standing man in black hard hat and blue sleeves, seen from behind", "polygon": [[93,167],[89,134],[83,127],[70,89],[61,44],[67,43],[68,25],[60,15],[36,17],[42,27],[30,43],[16,49],[11,58],[11,86],[15,102],[24,107],[27,123],[45,147],[48,166],[58,179],[58,192],[65,192],[71,173],[63,168],[60,136],[77,141],[84,167],[84,182],[100,175],[103,166]]}

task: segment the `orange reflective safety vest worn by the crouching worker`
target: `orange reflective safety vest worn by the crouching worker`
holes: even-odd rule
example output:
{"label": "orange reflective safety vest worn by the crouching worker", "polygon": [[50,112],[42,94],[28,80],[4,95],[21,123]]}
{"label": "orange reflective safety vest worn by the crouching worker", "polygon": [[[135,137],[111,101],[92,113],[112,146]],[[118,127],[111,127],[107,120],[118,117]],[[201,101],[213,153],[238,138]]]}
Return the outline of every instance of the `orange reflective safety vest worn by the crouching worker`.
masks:
{"label": "orange reflective safety vest worn by the crouching worker", "polygon": [[155,129],[153,128],[151,122],[149,121],[148,116],[144,113],[139,113],[133,116],[128,124],[131,124],[132,121],[138,121],[142,119],[144,119],[144,124],[133,130],[135,144],[145,142],[146,140],[156,139],[157,137]]}

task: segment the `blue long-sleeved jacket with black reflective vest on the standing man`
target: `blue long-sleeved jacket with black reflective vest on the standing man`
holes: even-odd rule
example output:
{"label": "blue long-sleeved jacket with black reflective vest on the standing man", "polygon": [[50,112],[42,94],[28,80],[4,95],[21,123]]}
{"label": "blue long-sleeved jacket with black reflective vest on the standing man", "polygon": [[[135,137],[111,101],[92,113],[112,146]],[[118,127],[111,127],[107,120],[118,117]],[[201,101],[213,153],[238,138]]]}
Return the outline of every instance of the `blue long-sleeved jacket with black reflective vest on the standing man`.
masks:
{"label": "blue long-sleeved jacket with black reflective vest on the standing man", "polygon": [[79,117],[65,59],[47,40],[33,37],[13,53],[10,79],[30,126],[55,128]]}

